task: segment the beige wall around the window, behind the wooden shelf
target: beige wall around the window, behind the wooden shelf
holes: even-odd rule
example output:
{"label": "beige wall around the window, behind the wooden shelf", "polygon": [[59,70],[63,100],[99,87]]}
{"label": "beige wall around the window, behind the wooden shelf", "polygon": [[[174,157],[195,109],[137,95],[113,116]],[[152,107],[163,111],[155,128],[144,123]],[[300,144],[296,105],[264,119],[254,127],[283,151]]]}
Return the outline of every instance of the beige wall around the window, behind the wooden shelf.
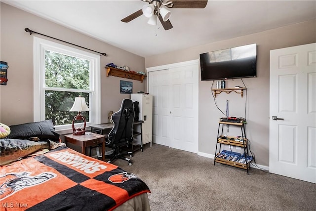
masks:
{"label": "beige wall around the window, behind the wooden shelf", "polygon": [[101,56],[102,122],[108,122],[109,111],[117,111],[123,98],[130,98],[130,94],[119,93],[120,80],[132,81],[134,93],[144,90],[146,80],[141,83],[113,76],[107,78],[104,68],[107,63],[113,62],[120,66],[127,65],[131,70],[145,71],[144,57],[100,42],[2,2],[0,15],[0,59],[8,62],[9,66],[8,83],[0,86],[1,123],[15,125],[33,122],[33,37],[42,36],[36,34],[30,36],[24,31],[24,28],[30,28],[50,37],[107,53],[107,56]]}

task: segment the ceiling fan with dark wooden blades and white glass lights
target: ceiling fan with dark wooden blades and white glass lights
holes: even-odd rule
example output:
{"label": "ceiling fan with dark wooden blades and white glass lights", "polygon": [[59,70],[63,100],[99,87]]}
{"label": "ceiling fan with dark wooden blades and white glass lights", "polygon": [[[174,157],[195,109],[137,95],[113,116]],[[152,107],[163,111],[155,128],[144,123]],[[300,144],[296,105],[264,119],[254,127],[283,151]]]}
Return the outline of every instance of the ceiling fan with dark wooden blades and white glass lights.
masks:
{"label": "ceiling fan with dark wooden blades and white glass lights", "polygon": [[141,16],[148,17],[148,24],[157,25],[157,17],[161,22],[164,30],[172,29],[172,24],[169,21],[171,12],[167,8],[204,8],[207,0],[142,0],[148,2],[142,9],[128,15],[121,21],[128,23],[135,18]]}

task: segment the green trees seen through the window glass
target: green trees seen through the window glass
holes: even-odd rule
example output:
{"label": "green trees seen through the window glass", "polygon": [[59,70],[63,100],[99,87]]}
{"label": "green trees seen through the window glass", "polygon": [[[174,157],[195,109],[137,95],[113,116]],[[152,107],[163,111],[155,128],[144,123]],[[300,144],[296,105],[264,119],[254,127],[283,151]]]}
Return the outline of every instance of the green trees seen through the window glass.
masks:
{"label": "green trees seen through the window glass", "polygon": [[[90,61],[45,51],[45,119],[54,125],[72,124],[77,112],[69,112],[81,95],[89,106]],[[89,112],[82,112],[89,122]]]}

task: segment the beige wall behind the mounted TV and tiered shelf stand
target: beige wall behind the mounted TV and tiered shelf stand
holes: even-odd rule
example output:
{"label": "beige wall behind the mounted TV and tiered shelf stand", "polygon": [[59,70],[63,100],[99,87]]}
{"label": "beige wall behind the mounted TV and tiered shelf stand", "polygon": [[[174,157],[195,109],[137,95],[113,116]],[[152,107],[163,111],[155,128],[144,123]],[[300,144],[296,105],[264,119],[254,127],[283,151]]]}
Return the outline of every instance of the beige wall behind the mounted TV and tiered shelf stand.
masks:
{"label": "beige wall behind the mounted TV and tiered shelf stand", "polygon": [[[316,42],[316,20],[294,24],[278,29],[238,37],[231,40],[209,43],[185,50],[164,53],[145,58],[145,67],[199,59],[199,54],[219,49],[257,43],[257,78],[243,79],[247,87],[246,97],[232,92],[216,97],[219,108],[225,113],[229,100],[230,116],[247,118],[246,135],[251,141],[250,150],[257,164],[269,166],[269,56],[270,50]],[[213,88],[216,87],[216,82]],[[227,80],[226,87],[243,86],[240,79]],[[212,81],[199,80],[198,150],[215,154],[218,120],[224,115],[216,108],[211,94]],[[246,112],[245,112],[246,106]],[[241,135],[240,130],[229,128],[228,135]]]}

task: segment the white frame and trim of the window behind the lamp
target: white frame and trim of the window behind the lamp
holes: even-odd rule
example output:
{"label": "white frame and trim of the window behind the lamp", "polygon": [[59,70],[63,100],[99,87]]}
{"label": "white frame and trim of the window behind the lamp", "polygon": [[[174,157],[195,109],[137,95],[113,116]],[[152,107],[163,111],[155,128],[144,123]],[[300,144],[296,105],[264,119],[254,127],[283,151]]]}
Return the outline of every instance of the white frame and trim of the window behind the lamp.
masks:
{"label": "white frame and trim of the window behind the lamp", "polygon": [[[89,122],[87,126],[100,124],[101,122],[101,80],[100,80],[100,55],[79,50],[57,42],[51,42],[38,37],[34,37],[33,42],[33,105],[34,122],[45,120],[45,51],[54,51],[65,55],[83,58],[90,61],[90,87],[89,90]],[[56,88],[62,91],[62,89]],[[80,89],[74,89],[80,92]],[[87,92],[84,90],[84,92]],[[75,100],[75,99],[74,99]],[[72,132],[72,124],[55,126],[55,130],[60,134]]]}

